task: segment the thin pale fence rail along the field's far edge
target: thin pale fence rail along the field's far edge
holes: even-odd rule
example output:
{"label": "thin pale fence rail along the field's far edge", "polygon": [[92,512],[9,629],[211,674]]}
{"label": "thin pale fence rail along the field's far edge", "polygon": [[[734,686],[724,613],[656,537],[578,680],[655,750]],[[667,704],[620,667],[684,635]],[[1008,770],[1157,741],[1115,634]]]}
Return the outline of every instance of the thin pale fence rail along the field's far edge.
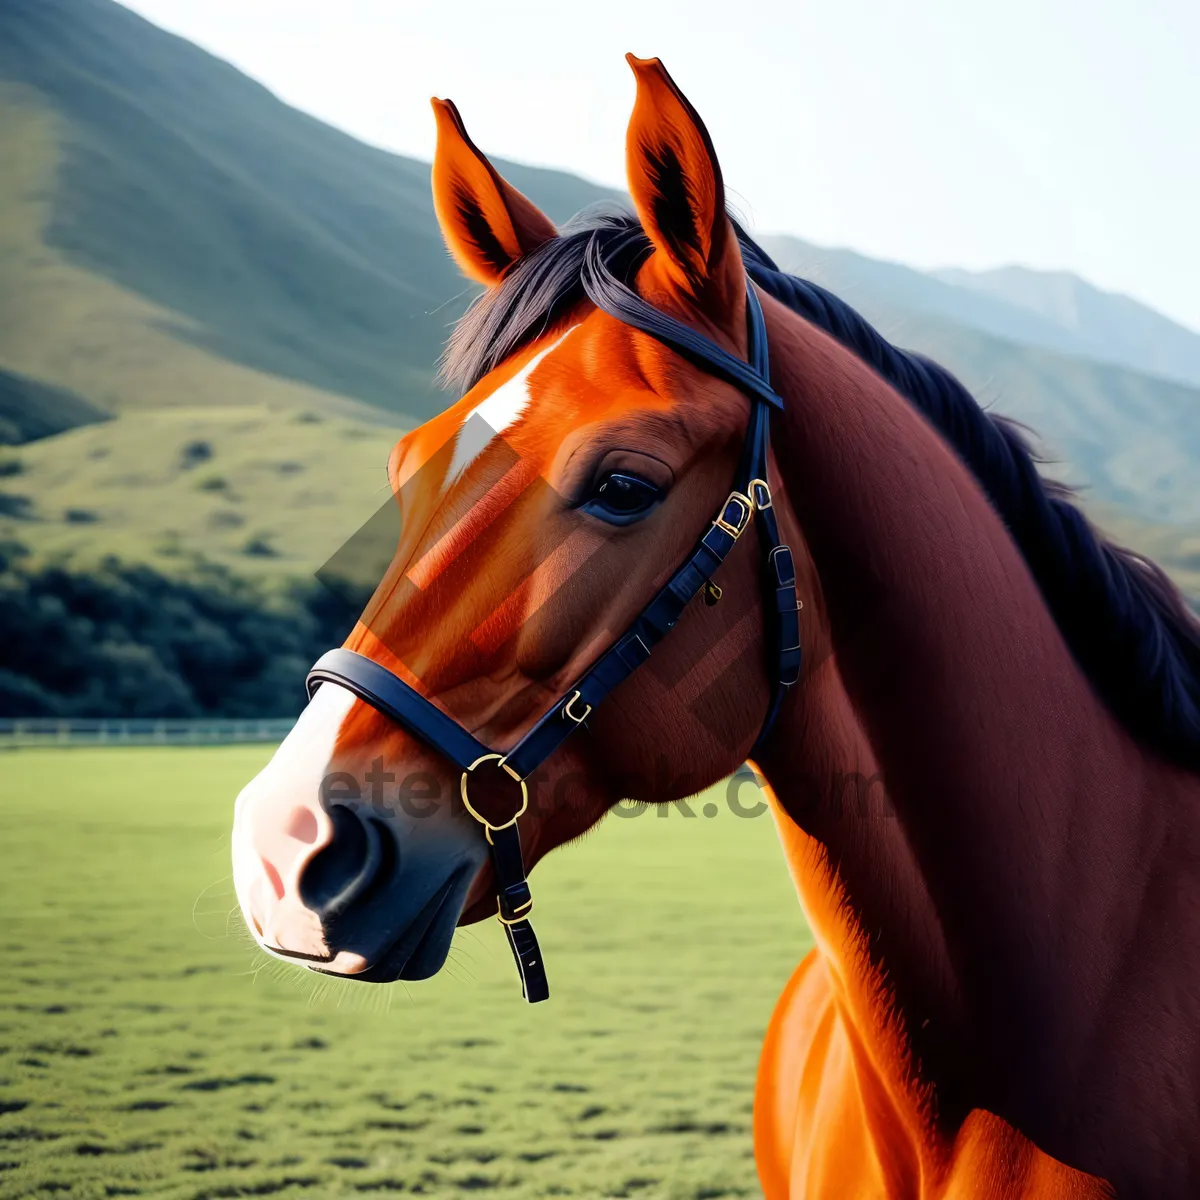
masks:
{"label": "thin pale fence rail along the field's far edge", "polygon": [[100,720],[92,718],[0,719],[0,750],[19,746],[203,746],[282,742],[293,716],[256,720],[206,718],[186,720]]}

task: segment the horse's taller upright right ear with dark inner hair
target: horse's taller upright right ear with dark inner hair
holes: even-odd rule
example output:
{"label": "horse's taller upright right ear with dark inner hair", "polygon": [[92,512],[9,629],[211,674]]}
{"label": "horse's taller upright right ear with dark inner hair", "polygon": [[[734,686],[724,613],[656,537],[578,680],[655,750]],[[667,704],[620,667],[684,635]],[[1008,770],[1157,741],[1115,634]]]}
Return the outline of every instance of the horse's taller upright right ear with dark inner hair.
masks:
{"label": "horse's taller upright right ear with dark inner hair", "polygon": [[721,168],[704,122],[666,67],[658,59],[625,59],[637,79],[625,138],[629,191],[668,278],[698,295],[727,265],[731,244],[737,251]]}

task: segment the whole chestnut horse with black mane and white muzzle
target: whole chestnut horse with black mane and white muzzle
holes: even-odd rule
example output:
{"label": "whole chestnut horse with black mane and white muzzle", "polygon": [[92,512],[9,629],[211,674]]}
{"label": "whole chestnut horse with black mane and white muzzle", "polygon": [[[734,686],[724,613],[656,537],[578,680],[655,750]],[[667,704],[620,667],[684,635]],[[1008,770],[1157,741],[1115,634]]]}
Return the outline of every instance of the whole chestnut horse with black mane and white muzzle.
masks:
{"label": "whole chestnut horse with black mane and white muzzle", "polygon": [[[238,797],[247,926],[389,982],[499,908],[541,998],[526,870],[749,757],[815,941],[758,1069],[770,1200],[1200,1194],[1200,629],[1021,428],[780,272],[692,106],[629,62],[632,211],[562,230],[433,101],[436,214],[481,286],[462,398],[390,456],[395,556],[334,652],[358,666],[314,671]],[[415,810],[359,786],[384,763]]]}

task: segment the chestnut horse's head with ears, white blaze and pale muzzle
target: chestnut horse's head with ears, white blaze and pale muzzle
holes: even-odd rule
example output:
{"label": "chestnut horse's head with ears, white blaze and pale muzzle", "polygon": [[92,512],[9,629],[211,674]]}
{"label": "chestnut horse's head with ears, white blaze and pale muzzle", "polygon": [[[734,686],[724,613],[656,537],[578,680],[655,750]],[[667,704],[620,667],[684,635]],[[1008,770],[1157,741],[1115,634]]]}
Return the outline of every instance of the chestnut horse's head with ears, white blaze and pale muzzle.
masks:
{"label": "chestnut horse's head with ears, white blaze and pale muzzle", "polygon": [[[642,300],[726,356],[749,352],[745,269],[709,136],[658,60],[629,61],[636,220],[559,233],[472,143],[454,104],[433,101],[437,217],[484,292],[446,360],[466,394],[391,454],[398,546],[346,643],[496,762],[568,697],[559,715],[584,728],[521,781],[527,868],[623,798],[673,800],[730,774],[773,698],[760,557],[745,545],[707,581],[709,602],[688,602],[653,665],[608,703],[593,712],[569,691],[722,511],[750,412],[737,386],[581,286],[607,234]],[[469,793],[466,779],[325,682],[238,798],[234,877],[258,943],[359,979],[434,973],[456,925],[496,912],[480,820],[515,803],[500,772],[473,774]]]}

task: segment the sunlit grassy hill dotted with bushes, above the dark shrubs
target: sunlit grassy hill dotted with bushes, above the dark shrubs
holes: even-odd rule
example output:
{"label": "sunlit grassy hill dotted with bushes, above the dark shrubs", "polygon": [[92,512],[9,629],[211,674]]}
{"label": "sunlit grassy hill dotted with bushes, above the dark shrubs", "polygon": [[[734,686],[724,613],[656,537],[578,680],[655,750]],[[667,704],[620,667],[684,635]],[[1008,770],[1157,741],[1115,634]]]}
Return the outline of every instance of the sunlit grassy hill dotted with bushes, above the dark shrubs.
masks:
{"label": "sunlit grassy hill dotted with bushes, above the dark shrubs", "polygon": [[[122,413],[0,454],[29,499],[0,538],[86,566],[116,554],[168,574],[197,558],[238,575],[308,580],[389,503],[398,430],[317,413]],[[199,457],[203,456],[203,457]]]}

